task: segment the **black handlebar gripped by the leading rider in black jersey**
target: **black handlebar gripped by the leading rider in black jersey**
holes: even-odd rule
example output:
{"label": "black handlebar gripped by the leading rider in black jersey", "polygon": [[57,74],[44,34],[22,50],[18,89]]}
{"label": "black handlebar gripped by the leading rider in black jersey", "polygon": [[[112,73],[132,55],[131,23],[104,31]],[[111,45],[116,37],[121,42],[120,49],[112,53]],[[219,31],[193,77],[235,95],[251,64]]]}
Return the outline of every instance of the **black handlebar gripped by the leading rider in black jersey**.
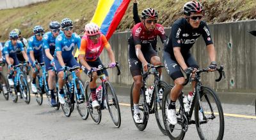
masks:
{"label": "black handlebar gripped by the leading rider in black jersey", "polygon": [[[224,77],[224,79],[226,79],[225,76],[225,71],[224,71],[224,67],[221,65],[220,68],[217,68],[216,71],[219,72],[220,76],[219,78],[217,78],[215,81],[220,81],[222,79],[222,77]],[[190,70],[189,73],[186,75],[186,81],[185,83],[183,83],[183,85],[187,85],[189,81],[191,81],[191,75],[192,75],[193,70]],[[205,69],[198,69],[196,70],[195,74],[200,74],[200,73],[204,73],[204,72],[209,72],[209,67],[205,68]]]}

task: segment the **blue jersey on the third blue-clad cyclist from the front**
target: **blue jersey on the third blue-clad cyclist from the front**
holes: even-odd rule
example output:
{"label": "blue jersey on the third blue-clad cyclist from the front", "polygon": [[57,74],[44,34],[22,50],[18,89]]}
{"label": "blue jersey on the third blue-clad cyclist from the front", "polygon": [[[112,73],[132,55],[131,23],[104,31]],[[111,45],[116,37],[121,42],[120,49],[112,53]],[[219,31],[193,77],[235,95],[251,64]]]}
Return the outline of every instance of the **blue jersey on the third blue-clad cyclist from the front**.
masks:
{"label": "blue jersey on the third blue-clad cyclist from the front", "polygon": [[37,55],[39,53],[42,53],[43,49],[43,40],[39,41],[36,39],[36,36],[31,36],[28,40],[28,51],[29,54],[30,51],[34,51],[34,55]]}

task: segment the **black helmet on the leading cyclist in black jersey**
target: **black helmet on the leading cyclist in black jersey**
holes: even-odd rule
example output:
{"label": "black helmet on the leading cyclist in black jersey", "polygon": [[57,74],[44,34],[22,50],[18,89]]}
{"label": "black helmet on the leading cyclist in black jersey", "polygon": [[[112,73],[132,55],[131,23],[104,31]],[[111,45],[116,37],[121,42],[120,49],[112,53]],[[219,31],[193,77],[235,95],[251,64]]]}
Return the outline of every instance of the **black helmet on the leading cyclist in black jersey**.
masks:
{"label": "black helmet on the leading cyclist in black jersey", "polygon": [[183,6],[183,13],[187,16],[190,16],[191,13],[202,13],[203,11],[204,7],[197,1],[189,1]]}

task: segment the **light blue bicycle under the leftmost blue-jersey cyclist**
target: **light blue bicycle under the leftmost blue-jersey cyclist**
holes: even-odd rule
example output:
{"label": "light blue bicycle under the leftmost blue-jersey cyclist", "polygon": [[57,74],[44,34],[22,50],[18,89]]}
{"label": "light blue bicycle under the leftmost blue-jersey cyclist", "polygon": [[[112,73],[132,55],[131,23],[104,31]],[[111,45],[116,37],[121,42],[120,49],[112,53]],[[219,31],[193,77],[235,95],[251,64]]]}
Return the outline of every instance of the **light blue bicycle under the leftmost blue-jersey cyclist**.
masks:
{"label": "light blue bicycle under the leftmost blue-jersey cyclist", "polygon": [[13,66],[13,81],[14,86],[9,88],[10,97],[12,98],[13,102],[18,101],[18,95],[20,94],[20,98],[23,98],[24,102],[29,104],[30,102],[30,91],[28,87],[28,82],[26,77],[24,76],[23,72],[20,70],[20,67],[26,66],[26,63],[20,63],[17,66]]}

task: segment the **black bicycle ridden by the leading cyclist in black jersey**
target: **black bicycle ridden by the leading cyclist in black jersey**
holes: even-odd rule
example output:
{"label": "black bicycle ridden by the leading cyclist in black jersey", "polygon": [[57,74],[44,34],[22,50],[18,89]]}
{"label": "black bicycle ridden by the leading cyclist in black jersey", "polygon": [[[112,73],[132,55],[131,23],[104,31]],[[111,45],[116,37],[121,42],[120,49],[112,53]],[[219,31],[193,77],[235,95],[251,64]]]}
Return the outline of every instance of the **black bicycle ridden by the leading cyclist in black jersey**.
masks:
{"label": "black bicycle ridden by the leading cyclist in black jersey", "polygon": [[[176,102],[176,115],[177,115],[177,124],[172,125],[168,122],[167,119],[167,108],[170,104],[170,91],[172,90],[172,85],[166,88],[163,97],[163,120],[164,126],[167,130],[167,134],[170,139],[184,139],[184,136],[188,130],[188,125],[195,124],[196,130],[200,139],[223,139],[224,134],[224,116],[223,110],[221,107],[220,99],[218,95],[212,90],[210,87],[203,86],[201,83],[201,73],[205,73],[209,71],[209,68],[198,69],[195,72],[195,78],[191,78],[192,71],[189,72],[186,78],[184,85],[187,85],[188,82],[195,81],[195,95],[193,95],[193,99],[189,102],[189,111],[185,111],[184,102],[183,102],[183,91],[179,96],[178,102]],[[215,81],[220,81],[222,77],[225,78],[225,72],[223,70],[223,66],[217,68],[218,73],[220,74],[219,78]],[[214,105],[216,104],[216,105]],[[193,115],[193,110],[195,109],[195,120],[192,120],[191,117]],[[200,113],[198,112],[200,111]],[[216,112],[218,111],[218,112]],[[202,113],[202,114],[201,114]],[[201,119],[200,119],[201,116]],[[219,122],[213,122],[218,121]],[[212,122],[210,122],[212,121]],[[220,127],[204,127],[204,124],[220,124]],[[212,132],[204,132],[205,130],[209,130],[212,127]],[[213,131],[216,130],[216,133]],[[207,136],[207,134],[212,134],[211,136]],[[217,136],[216,138],[213,138]]]}

